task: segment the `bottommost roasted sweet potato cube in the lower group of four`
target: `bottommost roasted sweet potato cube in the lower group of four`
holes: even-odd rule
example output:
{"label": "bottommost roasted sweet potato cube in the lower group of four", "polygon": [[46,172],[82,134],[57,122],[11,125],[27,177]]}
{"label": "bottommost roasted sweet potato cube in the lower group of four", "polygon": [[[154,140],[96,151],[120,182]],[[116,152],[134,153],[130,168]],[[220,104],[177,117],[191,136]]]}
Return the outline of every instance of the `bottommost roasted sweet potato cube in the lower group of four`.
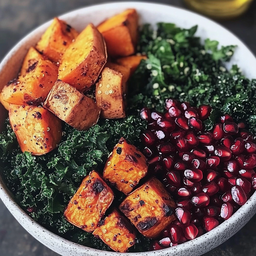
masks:
{"label": "bottommost roasted sweet potato cube in the lower group of four", "polygon": [[127,252],[135,244],[135,229],[116,208],[101,220],[93,233],[116,252]]}

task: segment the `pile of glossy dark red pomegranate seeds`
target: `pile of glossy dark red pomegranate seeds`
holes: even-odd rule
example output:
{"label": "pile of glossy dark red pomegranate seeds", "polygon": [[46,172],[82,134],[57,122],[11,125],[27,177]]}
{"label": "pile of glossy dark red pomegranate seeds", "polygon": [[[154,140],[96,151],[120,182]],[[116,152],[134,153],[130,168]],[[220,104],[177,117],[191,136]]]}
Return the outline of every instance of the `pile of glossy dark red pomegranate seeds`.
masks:
{"label": "pile of glossy dark red pomegranate seeds", "polygon": [[149,171],[176,201],[177,220],[151,245],[159,250],[214,229],[244,205],[256,189],[256,142],[228,114],[211,131],[202,121],[212,108],[166,100],[166,112],[140,111],[148,128],[141,139]]}

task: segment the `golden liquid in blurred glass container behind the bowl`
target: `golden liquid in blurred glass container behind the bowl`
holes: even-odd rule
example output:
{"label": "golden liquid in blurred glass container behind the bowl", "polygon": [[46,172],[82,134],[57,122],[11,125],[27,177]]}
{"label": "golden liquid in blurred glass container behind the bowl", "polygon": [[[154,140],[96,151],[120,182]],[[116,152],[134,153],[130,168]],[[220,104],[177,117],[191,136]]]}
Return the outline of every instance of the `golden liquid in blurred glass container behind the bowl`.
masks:
{"label": "golden liquid in blurred glass container behind the bowl", "polygon": [[185,0],[192,9],[214,18],[231,18],[244,13],[253,0]]}

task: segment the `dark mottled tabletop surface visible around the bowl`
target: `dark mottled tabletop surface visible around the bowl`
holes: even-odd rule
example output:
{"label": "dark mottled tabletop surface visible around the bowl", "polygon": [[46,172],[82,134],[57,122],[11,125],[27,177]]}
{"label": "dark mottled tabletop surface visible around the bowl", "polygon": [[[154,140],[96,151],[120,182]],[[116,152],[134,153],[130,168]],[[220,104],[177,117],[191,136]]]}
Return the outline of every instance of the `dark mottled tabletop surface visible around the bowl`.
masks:
{"label": "dark mottled tabletop surface visible around the bowl", "polygon": [[[26,33],[64,12],[104,0],[0,0],[0,59]],[[186,8],[181,0],[156,0]],[[256,2],[243,16],[220,22],[256,54]],[[0,256],[58,256],[32,238],[0,200]],[[236,235],[204,256],[256,256],[256,216]]]}

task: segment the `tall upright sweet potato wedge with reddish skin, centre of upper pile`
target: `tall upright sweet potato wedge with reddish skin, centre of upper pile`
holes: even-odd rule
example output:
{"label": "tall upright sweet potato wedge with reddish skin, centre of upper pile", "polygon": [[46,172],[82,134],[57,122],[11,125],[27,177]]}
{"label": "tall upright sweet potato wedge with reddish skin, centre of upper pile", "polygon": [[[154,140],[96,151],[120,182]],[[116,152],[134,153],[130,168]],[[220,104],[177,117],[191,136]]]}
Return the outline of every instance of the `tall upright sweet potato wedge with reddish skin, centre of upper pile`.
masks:
{"label": "tall upright sweet potato wedge with reddish skin, centre of upper pile", "polygon": [[63,54],[59,79],[79,91],[87,91],[95,84],[106,62],[105,41],[97,28],[89,24]]}

